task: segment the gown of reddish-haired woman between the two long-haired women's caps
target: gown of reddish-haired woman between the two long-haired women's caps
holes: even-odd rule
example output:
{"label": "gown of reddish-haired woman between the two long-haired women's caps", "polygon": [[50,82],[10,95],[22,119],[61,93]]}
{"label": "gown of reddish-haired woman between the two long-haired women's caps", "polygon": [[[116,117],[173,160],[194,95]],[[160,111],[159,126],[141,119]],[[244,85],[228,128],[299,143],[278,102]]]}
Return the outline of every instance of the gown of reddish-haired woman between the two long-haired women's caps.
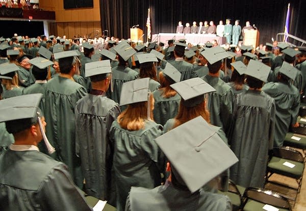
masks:
{"label": "gown of reddish-haired woman between the two long-haired women's caps", "polygon": [[179,111],[181,96],[179,94],[173,97],[165,98],[162,96],[162,90],[154,91],[154,121],[164,125],[168,119],[174,118]]}

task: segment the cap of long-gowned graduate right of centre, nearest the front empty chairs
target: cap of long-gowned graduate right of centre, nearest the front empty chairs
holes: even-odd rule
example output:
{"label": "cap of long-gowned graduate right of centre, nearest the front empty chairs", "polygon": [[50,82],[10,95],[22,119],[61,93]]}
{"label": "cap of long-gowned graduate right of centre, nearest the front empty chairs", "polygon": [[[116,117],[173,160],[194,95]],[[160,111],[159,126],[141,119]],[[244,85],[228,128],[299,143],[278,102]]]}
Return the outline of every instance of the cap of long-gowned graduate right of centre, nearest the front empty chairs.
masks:
{"label": "cap of long-gowned graduate right of centre, nearest the front empty chairs", "polygon": [[250,60],[244,74],[257,78],[262,82],[266,82],[270,73],[270,67],[262,62]]}

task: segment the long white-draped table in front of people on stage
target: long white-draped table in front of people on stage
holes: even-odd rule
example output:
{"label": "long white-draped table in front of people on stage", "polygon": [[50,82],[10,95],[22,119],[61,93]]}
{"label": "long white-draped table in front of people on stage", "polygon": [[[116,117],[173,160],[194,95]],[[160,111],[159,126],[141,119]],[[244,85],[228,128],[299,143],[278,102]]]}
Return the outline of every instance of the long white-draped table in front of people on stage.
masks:
{"label": "long white-draped table in front of people on stage", "polygon": [[175,33],[159,33],[152,35],[152,41],[158,41],[167,43],[167,40],[175,39],[186,39],[186,43],[191,43],[193,45],[196,44],[204,44],[207,41],[212,42],[213,40],[217,40],[219,45],[226,43],[225,37],[218,37],[216,35],[205,35],[205,34],[175,34]]}

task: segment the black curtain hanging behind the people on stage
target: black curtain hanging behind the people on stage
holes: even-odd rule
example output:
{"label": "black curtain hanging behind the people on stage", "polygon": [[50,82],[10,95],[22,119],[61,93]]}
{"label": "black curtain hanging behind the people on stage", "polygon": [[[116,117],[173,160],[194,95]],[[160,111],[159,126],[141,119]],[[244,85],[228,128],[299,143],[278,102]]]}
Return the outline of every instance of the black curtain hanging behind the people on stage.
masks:
{"label": "black curtain hanging behind the people on stage", "polygon": [[146,37],[147,10],[151,10],[151,34],[174,33],[177,22],[185,25],[193,21],[239,19],[241,26],[249,20],[260,31],[260,42],[271,42],[276,34],[284,32],[288,3],[291,7],[289,33],[306,39],[306,4],[304,0],[100,0],[102,30],[110,36],[129,38],[130,28],[139,24]]}

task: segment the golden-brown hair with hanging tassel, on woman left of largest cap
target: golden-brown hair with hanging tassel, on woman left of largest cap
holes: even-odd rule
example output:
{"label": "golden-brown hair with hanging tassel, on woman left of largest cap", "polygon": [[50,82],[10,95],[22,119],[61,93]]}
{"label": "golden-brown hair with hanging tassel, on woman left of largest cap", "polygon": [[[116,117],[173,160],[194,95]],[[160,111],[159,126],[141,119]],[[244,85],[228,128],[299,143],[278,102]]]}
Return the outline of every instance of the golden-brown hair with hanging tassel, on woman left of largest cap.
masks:
{"label": "golden-brown hair with hanging tassel, on woman left of largest cap", "polygon": [[[153,119],[154,98],[150,94],[150,118]],[[147,121],[147,101],[127,105],[127,108],[118,116],[117,121],[123,129],[140,130]]]}

